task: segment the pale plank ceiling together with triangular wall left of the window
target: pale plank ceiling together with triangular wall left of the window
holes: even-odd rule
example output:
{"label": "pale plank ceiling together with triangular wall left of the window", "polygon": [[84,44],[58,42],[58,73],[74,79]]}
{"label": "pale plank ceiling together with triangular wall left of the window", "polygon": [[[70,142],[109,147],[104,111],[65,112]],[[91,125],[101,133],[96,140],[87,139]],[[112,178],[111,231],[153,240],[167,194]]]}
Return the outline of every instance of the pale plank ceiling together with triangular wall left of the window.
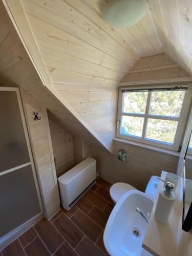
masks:
{"label": "pale plank ceiling together with triangular wall left of the window", "polygon": [[117,30],[101,16],[105,0],[22,0],[54,89],[110,145],[117,88],[142,56],[162,52],[150,13]]}

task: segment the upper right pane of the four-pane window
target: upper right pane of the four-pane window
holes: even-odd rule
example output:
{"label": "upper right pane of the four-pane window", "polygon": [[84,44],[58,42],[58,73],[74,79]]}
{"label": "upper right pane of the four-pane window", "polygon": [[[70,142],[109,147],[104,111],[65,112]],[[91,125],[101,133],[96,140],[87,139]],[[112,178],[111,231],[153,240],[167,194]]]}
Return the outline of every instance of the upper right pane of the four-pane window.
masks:
{"label": "upper right pane of the four-pane window", "polygon": [[180,116],[185,91],[152,92],[150,115]]}

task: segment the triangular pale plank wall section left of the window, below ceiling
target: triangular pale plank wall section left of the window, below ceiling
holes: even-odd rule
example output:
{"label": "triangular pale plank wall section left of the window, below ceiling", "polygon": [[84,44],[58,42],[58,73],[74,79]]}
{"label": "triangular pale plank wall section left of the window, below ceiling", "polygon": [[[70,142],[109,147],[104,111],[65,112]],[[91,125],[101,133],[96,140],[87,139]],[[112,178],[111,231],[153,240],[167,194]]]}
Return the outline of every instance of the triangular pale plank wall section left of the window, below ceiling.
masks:
{"label": "triangular pale plank wall section left of the window, below ceiling", "polygon": [[54,88],[106,144],[111,143],[116,131],[117,88],[74,86],[71,90],[61,84]]}

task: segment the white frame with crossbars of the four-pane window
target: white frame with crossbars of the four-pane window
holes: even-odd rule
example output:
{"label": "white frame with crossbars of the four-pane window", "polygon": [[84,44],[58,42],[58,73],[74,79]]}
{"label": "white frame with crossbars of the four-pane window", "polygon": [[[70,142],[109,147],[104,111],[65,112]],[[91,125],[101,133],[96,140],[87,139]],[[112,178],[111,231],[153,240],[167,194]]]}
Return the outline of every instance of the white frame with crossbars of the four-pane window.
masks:
{"label": "white frame with crossbars of the four-pane window", "polygon": [[[123,92],[122,90],[136,90],[136,89],[166,89],[170,87],[184,87],[188,88],[184,99],[183,99],[183,104],[181,108],[181,113],[180,117],[166,117],[166,116],[157,116],[157,115],[149,115],[148,110],[150,107],[150,99],[151,99],[151,91],[148,91],[148,96],[147,96],[147,102],[146,102],[146,109],[145,109],[145,114],[135,114],[135,113],[123,113]],[[127,87],[119,87],[119,98],[118,98],[118,111],[117,111],[117,129],[116,129],[116,136],[119,138],[123,138],[126,140],[131,140],[131,141],[136,141],[148,145],[153,145],[153,146],[158,146],[162,148],[168,148],[169,150],[173,151],[179,151],[180,146],[181,146],[181,140],[182,136],[184,133],[184,128],[187,120],[187,115],[189,111],[189,106],[191,102],[191,97],[192,97],[192,84],[156,84],[156,85],[137,85],[137,86],[127,86]],[[139,138],[137,136],[131,136],[131,135],[123,135],[120,133],[120,128],[122,124],[122,116],[134,116],[134,117],[144,117],[144,123],[143,123],[143,131],[142,131],[142,137]],[[178,126],[176,130],[176,135],[173,144],[165,143],[165,142],[158,142],[155,140],[150,140],[150,139],[144,139],[145,133],[146,133],[146,127],[147,127],[147,118],[151,119],[161,119],[161,120],[173,120],[173,121],[178,121]]]}

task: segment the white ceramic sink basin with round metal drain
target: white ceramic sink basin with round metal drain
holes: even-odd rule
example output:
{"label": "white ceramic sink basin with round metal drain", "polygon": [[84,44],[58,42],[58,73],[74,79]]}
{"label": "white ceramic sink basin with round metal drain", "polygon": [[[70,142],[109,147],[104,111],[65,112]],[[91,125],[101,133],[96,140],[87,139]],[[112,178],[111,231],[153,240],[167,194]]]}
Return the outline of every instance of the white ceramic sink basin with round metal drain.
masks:
{"label": "white ceramic sink basin with round metal drain", "polygon": [[138,190],[125,193],[113,208],[104,230],[104,246],[110,255],[152,255],[142,248],[148,223],[136,211],[152,212],[153,198]]}

